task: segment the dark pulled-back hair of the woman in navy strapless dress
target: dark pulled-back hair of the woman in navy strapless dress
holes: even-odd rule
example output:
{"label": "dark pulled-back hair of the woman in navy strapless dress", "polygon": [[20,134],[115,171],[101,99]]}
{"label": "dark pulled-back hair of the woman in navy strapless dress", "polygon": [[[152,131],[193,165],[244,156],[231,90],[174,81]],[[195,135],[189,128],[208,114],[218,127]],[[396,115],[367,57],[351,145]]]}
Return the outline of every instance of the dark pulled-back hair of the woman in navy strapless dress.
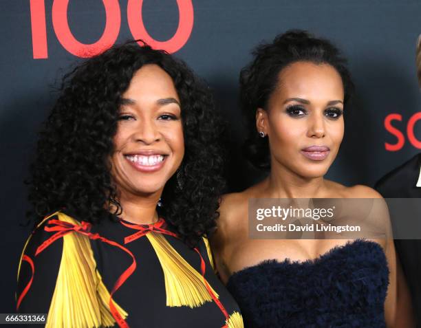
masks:
{"label": "dark pulled-back hair of the woman in navy strapless dress", "polygon": [[268,100],[279,82],[279,73],[299,61],[328,64],[342,78],[345,90],[344,105],[354,92],[346,60],[330,41],[319,39],[302,30],[290,30],[275,37],[272,43],[257,46],[254,58],[240,73],[240,102],[248,125],[244,153],[257,168],[270,168],[268,138],[260,138],[256,129],[256,111],[266,109]]}

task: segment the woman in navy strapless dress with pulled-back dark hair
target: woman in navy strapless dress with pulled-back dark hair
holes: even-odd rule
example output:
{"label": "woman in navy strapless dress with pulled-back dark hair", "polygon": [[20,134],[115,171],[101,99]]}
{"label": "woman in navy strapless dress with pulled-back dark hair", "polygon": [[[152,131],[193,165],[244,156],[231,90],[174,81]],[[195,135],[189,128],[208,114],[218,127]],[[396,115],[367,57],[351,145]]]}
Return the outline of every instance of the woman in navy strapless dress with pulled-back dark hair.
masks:
{"label": "woman in navy strapless dress with pulled-back dark hair", "polygon": [[[381,196],[367,186],[346,187],[324,178],[343,139],[352,89],[336,47],[305,31],[286,32],[260,45],[241,71],[242,107],[250,124],[248,158],[269,174],[223,197],[212,245],[217,270],[239,303],[246,327],[411,327],[397,323],[407,309],[397,311],[398,265]],[[294,239],[250,239],[249,200],[259,198],[309,209],[317,199],[323,204],[371,198],[369,213],[380,218],[382,237],[354,241],[332,232],[319,240],[317,234],[309,240],[296,233]],[[347,211],[351,219],[356,210]],[[290,228],[295,218],[288,220],[281,222]],[[313,221],[296,220],[294,226],[302,227]]]}

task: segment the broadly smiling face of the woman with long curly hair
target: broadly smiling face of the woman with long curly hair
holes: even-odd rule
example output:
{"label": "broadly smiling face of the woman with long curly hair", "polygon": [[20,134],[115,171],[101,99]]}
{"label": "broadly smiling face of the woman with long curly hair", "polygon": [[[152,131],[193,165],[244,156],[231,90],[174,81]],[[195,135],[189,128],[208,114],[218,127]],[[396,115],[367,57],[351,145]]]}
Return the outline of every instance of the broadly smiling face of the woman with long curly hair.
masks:
{"label": "broadly smiling face of the woman with long curly hair", "polygon": [[111,173],[120,193],[162,193],[184,156],[180,99],[158,65],[144,65],[122,94]]}

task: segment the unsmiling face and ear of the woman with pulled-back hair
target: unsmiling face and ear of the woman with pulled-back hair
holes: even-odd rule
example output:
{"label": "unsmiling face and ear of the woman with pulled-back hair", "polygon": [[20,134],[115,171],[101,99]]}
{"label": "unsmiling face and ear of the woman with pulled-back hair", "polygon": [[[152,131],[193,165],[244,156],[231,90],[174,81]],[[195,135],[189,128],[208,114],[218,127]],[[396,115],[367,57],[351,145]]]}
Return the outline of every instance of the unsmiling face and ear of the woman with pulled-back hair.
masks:
{"label": "unsmiling face and ear of the woman with pulled-back hair", "polygon": [[258,109],[257,131],[269,138],[272,170],[321,177],[343,138],[344,90],[334,67],[297,62],[279,73],[266,110]]}

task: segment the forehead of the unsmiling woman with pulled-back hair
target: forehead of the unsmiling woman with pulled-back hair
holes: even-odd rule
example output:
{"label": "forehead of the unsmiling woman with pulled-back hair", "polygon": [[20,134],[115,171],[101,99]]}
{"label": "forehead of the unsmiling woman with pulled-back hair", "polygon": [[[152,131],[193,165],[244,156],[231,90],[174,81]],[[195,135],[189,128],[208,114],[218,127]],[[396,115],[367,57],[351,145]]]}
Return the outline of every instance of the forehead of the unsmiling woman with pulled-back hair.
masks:
{"label": "forehead of the unsmiling woman with pulled-back hair", "polygon": [[343,82],[331,65],[296,62],[279,72],[277,88],[272,96],[343,100]]}

